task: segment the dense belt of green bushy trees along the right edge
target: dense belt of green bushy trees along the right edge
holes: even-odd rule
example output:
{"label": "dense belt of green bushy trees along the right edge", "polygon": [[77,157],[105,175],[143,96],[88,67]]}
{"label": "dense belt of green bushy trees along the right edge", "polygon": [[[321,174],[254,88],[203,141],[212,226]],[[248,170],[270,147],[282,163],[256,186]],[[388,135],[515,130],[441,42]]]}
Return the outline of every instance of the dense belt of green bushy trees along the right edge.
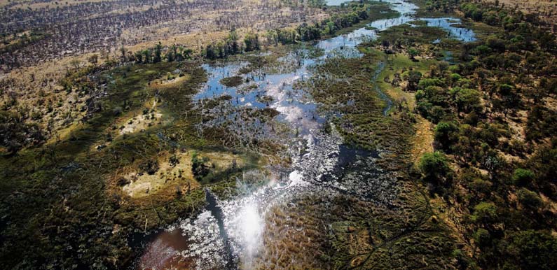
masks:
{"label": "dense belt of green bushy trees along the right edge", "polygon": [[[425,155],[419,169],[434,192],[467,208],[479,267],[556,269],[550,232],[557,216],[542,199],[557,200],[557,111],[545,103],[557,94],[555,38],[519,12],[476,3],[460,8],[502,31],[463,44],[461,64],[403,74],[416,111],[436,124],[438,152]],[[518,111],[528,112],[527,122]],[[513,123],[525,125],[525,137],[517,138]]]}

